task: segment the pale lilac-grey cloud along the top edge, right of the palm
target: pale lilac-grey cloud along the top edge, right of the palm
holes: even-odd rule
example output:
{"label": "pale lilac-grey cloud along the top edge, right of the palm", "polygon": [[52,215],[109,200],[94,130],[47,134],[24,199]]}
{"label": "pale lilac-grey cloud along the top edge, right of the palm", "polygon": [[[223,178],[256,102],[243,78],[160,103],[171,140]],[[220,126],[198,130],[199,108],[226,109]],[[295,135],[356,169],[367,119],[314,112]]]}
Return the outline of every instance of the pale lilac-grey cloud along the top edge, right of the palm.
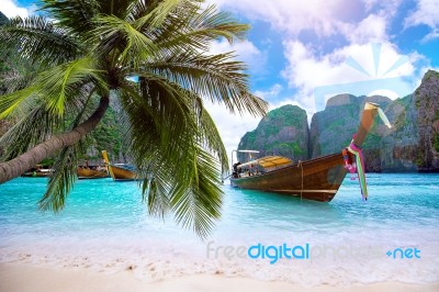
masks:
{"label": "pale lilac-grey cloud along the top edge, right of the palm", "polygon": [[[394,15],[402,0],[307,0],[258,1],[211,0],[219,9],[244,14],[249,20],[270,23],[271,27],[289,37],[312,31],[319,37],[342,34],[347,40],[358,25],[358,36],[374,35],[383,38],[386,20]],[[370,16],[370,11],[375,15]],[[362,22],[362,23],[361,23]],[[360,23],[360,24],[359,24]]]}

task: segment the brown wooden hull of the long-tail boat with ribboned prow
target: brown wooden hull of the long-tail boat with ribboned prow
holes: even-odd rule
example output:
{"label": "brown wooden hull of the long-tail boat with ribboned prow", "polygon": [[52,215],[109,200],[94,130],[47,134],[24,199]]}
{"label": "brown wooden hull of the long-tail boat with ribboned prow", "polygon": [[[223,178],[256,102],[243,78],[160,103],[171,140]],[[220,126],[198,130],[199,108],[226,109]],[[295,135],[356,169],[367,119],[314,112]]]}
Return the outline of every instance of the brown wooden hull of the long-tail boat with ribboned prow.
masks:
{"label": "brown wooden hull of the long-tail boat with ribboned prow", "polygon": [[347,170],[341,154],[333,154],[270,172],[232,178],[233,187],[283,193],[302,199],[329,202],[336,195]]}

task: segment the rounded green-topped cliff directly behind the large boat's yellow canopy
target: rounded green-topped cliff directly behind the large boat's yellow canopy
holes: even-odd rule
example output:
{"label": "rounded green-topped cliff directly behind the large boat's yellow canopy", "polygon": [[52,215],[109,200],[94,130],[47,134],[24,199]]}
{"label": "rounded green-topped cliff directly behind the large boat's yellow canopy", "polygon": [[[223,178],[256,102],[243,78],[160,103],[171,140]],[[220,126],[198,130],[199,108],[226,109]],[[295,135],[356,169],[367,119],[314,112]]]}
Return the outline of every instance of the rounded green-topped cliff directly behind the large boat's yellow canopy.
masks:
{"label": "rounded green-topped cliff directly behind the large boat's yellow canopy", "polygon": [[[308,126],[306,112],[296,105],[270,111],[258,127],[240,139],[238,149],[259,150],[260,155],[281,155],[291,159],[307,159]],[[247,160],[245,155],[238,159]]]}

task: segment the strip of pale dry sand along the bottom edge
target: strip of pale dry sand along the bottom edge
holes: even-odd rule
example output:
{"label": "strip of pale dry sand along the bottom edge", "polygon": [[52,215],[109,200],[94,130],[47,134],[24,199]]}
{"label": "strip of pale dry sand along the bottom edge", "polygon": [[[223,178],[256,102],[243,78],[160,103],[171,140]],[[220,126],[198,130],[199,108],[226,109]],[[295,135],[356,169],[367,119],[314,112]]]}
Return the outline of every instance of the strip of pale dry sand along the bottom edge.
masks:
{"label": "strip of pale dry sand along the bottom edge", "polygon": [[263,282],[246,278],[195,274],[157,282],[138,279],[133,271],[114,274],[87,269],[55,268],[29,263],[0,263],[0,291],[439,291],[439,283],[407,284],[382,282],[350,287],[319,285],[304,288],[286,282]]}

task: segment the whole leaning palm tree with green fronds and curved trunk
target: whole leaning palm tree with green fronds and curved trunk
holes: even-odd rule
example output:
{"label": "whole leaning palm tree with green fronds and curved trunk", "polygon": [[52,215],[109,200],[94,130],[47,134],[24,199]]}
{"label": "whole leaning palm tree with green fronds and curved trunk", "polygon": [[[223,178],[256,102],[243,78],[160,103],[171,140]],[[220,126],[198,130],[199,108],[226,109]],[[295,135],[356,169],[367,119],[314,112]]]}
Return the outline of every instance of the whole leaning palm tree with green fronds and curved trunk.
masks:
{"label": "whole leaning palm tree with green fronds and curved trunk", "polygon": [[139,172],[150,214],[205,236],[219,216],[227,156],[204,100],[230,112],[263,115],[233,54],[210,55],[213,41],[245,37],[247,25],[203,0],[43,0],[45,16],[15,18],[0,48],[33,68],[3,82],[0,119],[19,122],[0,139],[0,183],[48,156],[55,173],[40,201],[59,211],[75,182],[82,141],[110,100]]}

